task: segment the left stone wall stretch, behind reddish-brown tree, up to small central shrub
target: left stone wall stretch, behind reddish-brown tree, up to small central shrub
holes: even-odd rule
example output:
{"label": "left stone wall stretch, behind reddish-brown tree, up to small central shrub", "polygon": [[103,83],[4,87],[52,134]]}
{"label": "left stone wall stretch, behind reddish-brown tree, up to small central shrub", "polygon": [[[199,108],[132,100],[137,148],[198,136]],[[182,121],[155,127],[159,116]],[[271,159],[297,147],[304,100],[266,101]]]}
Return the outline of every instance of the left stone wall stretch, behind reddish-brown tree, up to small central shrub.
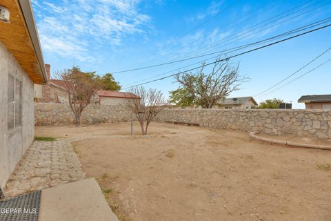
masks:
{"label": "left stone wall stretch, behind reddish-brown tree, up to small central shrub", "polygon": [[[34,103],[34,124],[68,125],[74,123],[68,104]],[[81,124],[128,122],[130,113],[120,106],[89,105],[81,116]]]}

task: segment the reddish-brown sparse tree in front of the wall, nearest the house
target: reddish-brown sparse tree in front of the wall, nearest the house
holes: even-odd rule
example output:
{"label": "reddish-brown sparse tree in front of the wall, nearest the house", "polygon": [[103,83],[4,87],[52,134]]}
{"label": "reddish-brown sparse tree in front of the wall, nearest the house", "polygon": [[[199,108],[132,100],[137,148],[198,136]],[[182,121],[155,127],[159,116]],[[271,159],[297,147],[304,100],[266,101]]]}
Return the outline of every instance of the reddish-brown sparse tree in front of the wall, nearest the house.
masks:
{"label": "reddish-brown sparse tree in front of the wall, nearest the house", "polygon": [[81,113],[92,103],[92,99],[101,88],[99,81],[83,73],[78,67],[66,69],[56,74],[59,84],[66,90],[68,103],[74,114],[76,126],[81,125]]}

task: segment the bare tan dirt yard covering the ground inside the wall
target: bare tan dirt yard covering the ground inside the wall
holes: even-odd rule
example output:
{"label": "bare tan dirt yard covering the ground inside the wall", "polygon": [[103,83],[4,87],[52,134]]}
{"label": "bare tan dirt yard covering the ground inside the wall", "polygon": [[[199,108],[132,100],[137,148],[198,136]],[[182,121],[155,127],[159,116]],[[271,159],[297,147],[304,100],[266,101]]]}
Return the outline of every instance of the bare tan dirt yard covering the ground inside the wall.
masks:
{"label": "bare tan dirt yard covering the ground inside the wall", "polygon": [[331,220],[331,151],[197,126],[134,131],[36,127],[39,136],[86,138],[73,143],[83,170],[121,220]]}

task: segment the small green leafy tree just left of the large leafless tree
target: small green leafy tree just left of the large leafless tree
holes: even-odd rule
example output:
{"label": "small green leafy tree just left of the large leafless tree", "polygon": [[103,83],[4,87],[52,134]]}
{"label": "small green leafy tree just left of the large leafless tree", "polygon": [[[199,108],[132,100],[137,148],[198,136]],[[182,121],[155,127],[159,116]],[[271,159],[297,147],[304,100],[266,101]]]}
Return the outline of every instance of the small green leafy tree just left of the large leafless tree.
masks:
{"label": "small green leafy tree just left of the large leafless tree", "polygon": [[178,88],[170,91],[169,102],[177,106],[191,106],[194,104],[194,97],[187,88]]}

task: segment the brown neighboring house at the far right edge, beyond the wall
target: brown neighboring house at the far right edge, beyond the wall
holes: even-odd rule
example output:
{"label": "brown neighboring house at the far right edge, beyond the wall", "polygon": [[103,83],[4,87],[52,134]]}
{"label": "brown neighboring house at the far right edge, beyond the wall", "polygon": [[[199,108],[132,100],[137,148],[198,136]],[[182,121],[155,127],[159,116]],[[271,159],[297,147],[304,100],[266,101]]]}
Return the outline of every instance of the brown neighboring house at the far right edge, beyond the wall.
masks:
{"label": "brown neighboring house at the far right edge, beyond the wall", "polygon": [[306,109],[331,111],[331,95],[304,95],[298,103],[305,103]]}

